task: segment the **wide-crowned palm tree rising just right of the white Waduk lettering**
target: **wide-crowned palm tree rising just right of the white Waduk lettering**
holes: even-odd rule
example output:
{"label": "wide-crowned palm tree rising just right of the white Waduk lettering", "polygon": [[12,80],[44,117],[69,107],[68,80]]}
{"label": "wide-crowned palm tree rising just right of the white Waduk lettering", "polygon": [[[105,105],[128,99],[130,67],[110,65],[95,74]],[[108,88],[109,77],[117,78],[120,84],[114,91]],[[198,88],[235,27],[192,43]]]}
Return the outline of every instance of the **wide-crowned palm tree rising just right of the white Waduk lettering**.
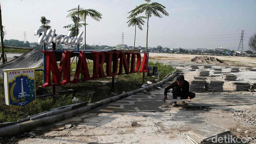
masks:
{"label": "wide-crowned palm tree rising just right of the white Waduk lettering", "polygon": [[74,15],[78,15],[79,13],[79,17],[81,18],[82,21],[84,21],[83,25],[84,25],[84,44],[86,44],[86,17],[90,16],[91,18],[93,18],[94,20],[98,21],[100,19],[102,19],[102,14],[99,13],[98,11],[94,10],[94,9],[83,9],[83,8],[73,8],[70,9],[68,12],[70,12],[67,17],[72,17]]}

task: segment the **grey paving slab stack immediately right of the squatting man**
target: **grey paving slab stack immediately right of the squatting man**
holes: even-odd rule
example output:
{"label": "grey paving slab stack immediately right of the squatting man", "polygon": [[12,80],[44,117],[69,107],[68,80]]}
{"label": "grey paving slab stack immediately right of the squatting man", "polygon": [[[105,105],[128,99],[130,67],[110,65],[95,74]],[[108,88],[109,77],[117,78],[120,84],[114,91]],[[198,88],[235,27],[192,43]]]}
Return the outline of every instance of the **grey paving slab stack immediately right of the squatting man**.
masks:
{"label": "grey paving slab stack immediately right of the squatting man", "polygon": [[189,82],[189,91],[191,92],[205,92],[205,80],[191,79]]}

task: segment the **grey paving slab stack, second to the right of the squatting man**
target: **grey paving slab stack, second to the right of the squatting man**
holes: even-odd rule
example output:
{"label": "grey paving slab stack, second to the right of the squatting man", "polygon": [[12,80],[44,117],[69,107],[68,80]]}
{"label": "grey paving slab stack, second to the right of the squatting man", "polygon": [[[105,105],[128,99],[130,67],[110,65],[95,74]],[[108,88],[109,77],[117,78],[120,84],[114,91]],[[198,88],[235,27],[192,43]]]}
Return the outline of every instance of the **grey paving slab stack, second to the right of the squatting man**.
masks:
{"label": "grey paving slab stack, second to the right of the squatting man", "polygon": [[206,90],[211,92],[222,92],[224,81],[206,80]]}

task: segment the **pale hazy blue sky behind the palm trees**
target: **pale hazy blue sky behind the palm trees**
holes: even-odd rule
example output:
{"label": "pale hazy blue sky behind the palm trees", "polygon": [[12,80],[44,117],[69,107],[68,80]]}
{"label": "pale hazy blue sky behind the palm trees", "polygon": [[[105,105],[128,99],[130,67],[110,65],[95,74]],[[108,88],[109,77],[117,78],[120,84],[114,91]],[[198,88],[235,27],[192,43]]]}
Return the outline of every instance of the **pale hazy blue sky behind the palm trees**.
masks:
{"label": "pale hazy blue sky behind the palm trees", "polygon": [[[244,50],[248,39],[256,32],[256,0],[152,0],[166,7],[169,16],[149,19],[149,47],[218,48],[237,50],[241,31],[244,30]],[[128,12],[144,0],[4,0],[1,1],[5,39],[37,42],[34,31],[41,26],[41,16],[49,19],[56,34],[67,34],[63,28],[71,24],[68,10],[78,7],[92,8],[102,13],[97,22],[88,17],[86,43],[115,46],[124,43],[133,46],[134,27],[127,27]],[[144,13],[141,14],[144,16]],[[146,46],[146,23],[136,33],[135,46]],[[80,31],[84,31],[81,28]]]}

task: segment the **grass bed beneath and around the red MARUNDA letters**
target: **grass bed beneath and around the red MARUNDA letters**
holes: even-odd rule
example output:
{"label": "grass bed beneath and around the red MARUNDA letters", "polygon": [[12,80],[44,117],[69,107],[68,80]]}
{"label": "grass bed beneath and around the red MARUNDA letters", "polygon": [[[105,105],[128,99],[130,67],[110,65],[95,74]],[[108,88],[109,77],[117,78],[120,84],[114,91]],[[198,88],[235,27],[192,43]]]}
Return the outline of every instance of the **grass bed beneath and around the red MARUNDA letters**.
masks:
{"label": "grass bed beneath and around the red MARUNDA letters", "polygon": [[[104,65],[105,66],[105,65]],[[163,65],[162,63],[153,63],[149,62],[149,66],[157,66],[158,71],[160,72],[159,80],[162,80],[167,74],[172,73],[176,69],[173,67],[168,67]],[[90,76],[93,73],[93,62],[88,63]],[[72,71],[75,69],[75,64],[71,65],[71,78],[74,77],[75,72]],[[105,69],[105,68],[104,68]],[[105,73],[106,74],[106,73]],[[78,102],[89,101],[97,102],[99,100],[103,100],[105,98],[109,98],[113,96],[113,93],[121,94],[123,92],[129,92],[131,90],[135,90],[140,88],[144,82],[142,81],[143,73],[133,73],[133,74],[124,74],[124,75],[116,75],[114,78],[117,83],[114,84],[112,88],[112,83],[106,83],[106,86],[110,87],[107,90],[100,90],[98,87],[105,86],[102,83],[95,82],[80,82],[80,83],[70,83],[67,85],[63,85],[64,89],[74,89],[72,92],[68,93],[56,93],[55,99],[52,97],[39,98],[31,102],[29,105],[24,108],[17,108],[5,105],[4,99],[4,88],[3,88],[3,79],[0,78],[0,122],[11,122],[17,121],[21,118],[25,118],[27,116],[31,116],[40,112],[47,111],[52,108],[56,108],[59,106],[70,105],[74,102],[72,99],[74,97],[78,98]],[[145,73],[146,75],[146,73]],[[145,77],[144,81],[157,82],[158,75]],[[112,80],[112,77],[101,78],[98,80]],[[37,96],[49,94],[51,90],[44,89],[41,86],[43,83],[43,73],[42,71],[36,71],[35,73],[35,83],[36,83],[36,94]],[[78,95],[78,92],[88,92],[86,96]]]}

